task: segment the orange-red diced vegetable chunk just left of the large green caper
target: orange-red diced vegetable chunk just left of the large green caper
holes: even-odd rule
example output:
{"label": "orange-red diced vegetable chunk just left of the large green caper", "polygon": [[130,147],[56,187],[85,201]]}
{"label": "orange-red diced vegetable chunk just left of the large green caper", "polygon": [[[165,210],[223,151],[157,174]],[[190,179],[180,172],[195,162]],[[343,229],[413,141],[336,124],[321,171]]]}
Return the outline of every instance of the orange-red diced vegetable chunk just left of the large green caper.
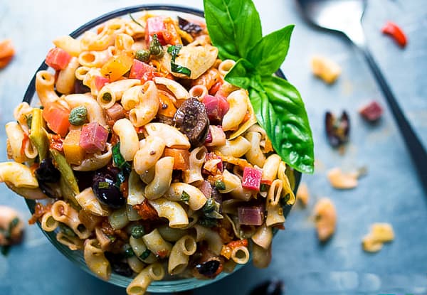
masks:
{"label": "orange-red diced vegetable chunk just left of the large green caper", "polygon": [[43,109],[43,119],[48,124],[49,129],[62,137],[67,135],[70,127],[69,116],[70,110],[56,102],[48,104]]}

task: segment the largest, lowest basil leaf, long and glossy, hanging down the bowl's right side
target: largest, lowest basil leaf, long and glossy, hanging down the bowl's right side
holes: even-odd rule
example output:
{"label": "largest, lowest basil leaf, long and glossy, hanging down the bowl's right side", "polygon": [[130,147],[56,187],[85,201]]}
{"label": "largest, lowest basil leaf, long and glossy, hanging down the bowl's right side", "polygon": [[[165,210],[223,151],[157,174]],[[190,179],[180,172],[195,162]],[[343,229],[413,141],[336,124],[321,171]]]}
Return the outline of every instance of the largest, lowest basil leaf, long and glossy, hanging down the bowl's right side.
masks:
{"label": "largest, lowest basil leaf, long and glossy, hanging down the bowl's right side", "polygon": [[314,171],[314,144],[300,93],[279,77],[263,77],[265,91],[253,88],[249,97],[258,123],[283,161],[304,173]]}

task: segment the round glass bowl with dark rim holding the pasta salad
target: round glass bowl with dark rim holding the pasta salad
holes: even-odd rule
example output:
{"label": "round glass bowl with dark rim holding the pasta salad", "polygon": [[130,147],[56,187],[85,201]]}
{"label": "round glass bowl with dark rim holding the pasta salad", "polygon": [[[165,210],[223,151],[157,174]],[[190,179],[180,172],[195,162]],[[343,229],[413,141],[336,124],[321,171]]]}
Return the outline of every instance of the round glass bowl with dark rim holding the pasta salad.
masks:
{"label": "round glass bowl with dark rim holding the pasta salad", "polygon": [[[186,16],[191,16],[194,18],[194,16],[203,18],[204,13],[203,11],[200,11],[198,9],[191,9],[186,8],[182,6],[166,6],[166,5],[139,5],[139,6],[130,6],[125,7],[123,9],[117,9],[115,11],[111,11],[110,13],[104,14],[102,16],[99,16],[92,21],[89,21],[88,23],[85,23],[83,26],[80,26],[80,28],[76,29],[72,33],[70,33],[70,36],[73,38],[80,37],[85,31],[89,31],[96,26],[99,26],[100,24],[104,23],[105,21],[110,20],[111,18],[116,18],[120,16],[127,16],[128,14],[142,12],[142,11],[152,11],[154,13],[159,14],[167,14],[169,16],[176,16],[179,15],[183,18]],[[37,72],[39,70],[46,70],[48,66],[46,63],[43,63],[38,68]],[[283,72],[281,70],[278,70],[276,73],[279,77],[285,78],[285,75],[283,75]],[[26,93],[23,97],[23,102],[28,102],[28,104],[36,104],[38,101],[38,98],[36,96],[36,88],[35,88],[35,81],[36,81],[36,75],[33,76],[30,84],[28,85],[28,88],[26,90]],[[288,173],[287,173],[288,174]],[[292,171],[290,170],[290,173],[288,174],[288,178],[290,180],[292,188],[294,188],[294,191],[296,193],[297,187],[300,183],[301,179],[301,173],[298,171]],[[36,202],[34,200],[28,200],[26,199],[26,204],[28,205],[28,209],[31,211],[31,214],[34,213],[34,208],[36,205]],[[283,214],[285,216],[288,215],[291,209],[291,205],[287,205],[285,208],[283,208]],[[38,222],[38,227],[41,229],[40,222]],[[82,251],[72,251],[67,246],[61,244],[56,240],[56,231],[55,232],[45,232],[44,230],[41,230],[44,235],[48,238],[48,240],[62,253],[67,257],[70,261],[74,262],[75,264],[78,264],[78,266],[83,269],[85,272],[88,272],[89,274],[93,274],[93,272],[88,269],[88,266],[85,263],[85,259],[83,258],[83,252]],[[233,272],[236,272],[238,269],[243,267],[243,264],[238,264],[238,266],[234,269]],[[167,293],[167,292],[176,292],[176,291],[185,291],[189,289],[195,289],[201,286],[205,286],[207,284],[214,283],[215,281],[218,281],[222,279],[223,277],[228,276],[230,273],[222,272],[219,274],[215,279],[164,279],[162,281],[153,281],[147,291],[148,292],[154,292],[154,293]],[[117,286],[126,287],[128,284],[130,284],[130,281],[132,281],[132,278],[124,277],[119,274],[115,274],[112,272],[110,279],[108,280],[109,283],[115,284]]]}

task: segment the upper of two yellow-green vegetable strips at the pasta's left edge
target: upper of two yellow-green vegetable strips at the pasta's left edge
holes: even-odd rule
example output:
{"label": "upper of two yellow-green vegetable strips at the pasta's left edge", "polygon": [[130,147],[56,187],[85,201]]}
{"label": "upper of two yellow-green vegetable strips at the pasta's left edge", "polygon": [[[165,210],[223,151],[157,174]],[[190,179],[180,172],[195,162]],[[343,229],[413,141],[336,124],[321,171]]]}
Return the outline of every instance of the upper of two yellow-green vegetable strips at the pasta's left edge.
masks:
{"label": "upper of two yellow-green vegetable strips at the pasta's left edge", "polygon": [[38,159],[40,161],[46,159],[48,156],[49,141],[46,135],[46,130],[43,128],[43,110],[34,108],[31,113],[31,132],[28,136],[31,143],[36,146],[38,151]]}

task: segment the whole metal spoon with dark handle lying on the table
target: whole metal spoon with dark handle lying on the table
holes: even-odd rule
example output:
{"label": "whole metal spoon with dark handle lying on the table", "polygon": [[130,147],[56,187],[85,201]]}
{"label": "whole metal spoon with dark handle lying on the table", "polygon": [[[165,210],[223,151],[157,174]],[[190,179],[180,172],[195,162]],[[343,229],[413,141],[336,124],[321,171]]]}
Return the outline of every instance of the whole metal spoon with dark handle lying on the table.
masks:
{"label": "whole metal spoon with dark handle lying on the table", "polygon": [[326,28],[331,31],[343,33],[359,48],[367,60],[369,68],[381,88],[391,113],[396,119],[401,136],[404,138],[406,147],[418,171],[418,176],[427,192],[427,153],[416,133],[413,132],[411,124],[406,119],[399,104],[396,101],[384,75],[376,65],[367,46],[366,38],[362,28],[362,16],[366,8],[365,0],[297,0],[302,14],[307,21],[313,25]]}

